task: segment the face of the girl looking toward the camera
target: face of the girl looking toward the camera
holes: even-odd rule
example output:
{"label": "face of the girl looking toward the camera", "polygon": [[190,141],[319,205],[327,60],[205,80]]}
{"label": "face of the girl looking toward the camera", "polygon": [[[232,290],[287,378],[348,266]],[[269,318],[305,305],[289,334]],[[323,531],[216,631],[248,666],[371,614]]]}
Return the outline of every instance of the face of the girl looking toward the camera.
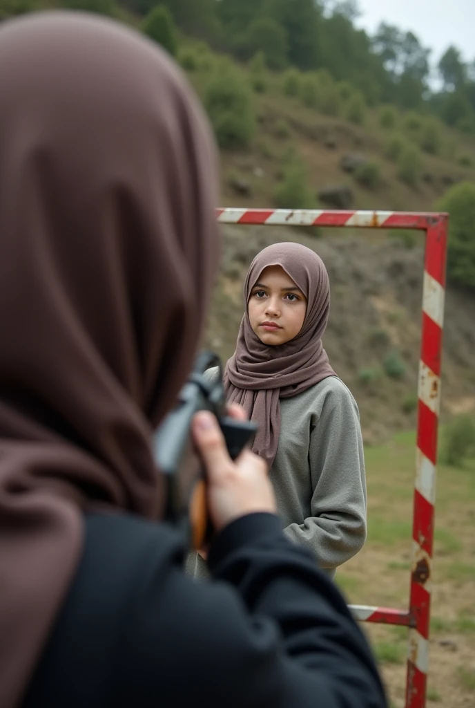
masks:
{"label": "face of the girl looking toward the camera", "polygon": [[268,265],[252,288],[247,312],[263,344],[285,344],[302,329],[307,298],[280,265]]}

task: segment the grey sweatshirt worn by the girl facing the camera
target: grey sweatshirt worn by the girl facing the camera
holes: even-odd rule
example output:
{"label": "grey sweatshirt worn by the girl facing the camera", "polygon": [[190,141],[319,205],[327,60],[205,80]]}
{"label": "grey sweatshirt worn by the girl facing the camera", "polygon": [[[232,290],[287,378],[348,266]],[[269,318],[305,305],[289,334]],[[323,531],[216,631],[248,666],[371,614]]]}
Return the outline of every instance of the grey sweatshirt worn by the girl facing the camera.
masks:
{"label": "grey sweatshirt worn by the girl facing the camera", "polygon": [[[209,376],[217,371],[209,370]],[[278,513],[286,535],[310,548],[334,578],[336,567],[356,555],[366,539],[358,406],[336,376],[280,402],[281,433],[270,472]],[[208,576],[196,553],[189,555],[187,572]]]}

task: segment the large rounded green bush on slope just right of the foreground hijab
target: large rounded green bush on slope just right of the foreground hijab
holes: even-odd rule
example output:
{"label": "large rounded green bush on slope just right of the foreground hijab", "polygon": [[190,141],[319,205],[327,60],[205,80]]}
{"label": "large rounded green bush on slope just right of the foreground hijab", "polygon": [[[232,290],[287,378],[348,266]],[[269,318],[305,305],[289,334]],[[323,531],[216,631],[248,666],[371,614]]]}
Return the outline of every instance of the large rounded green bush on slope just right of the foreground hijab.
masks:
{"label": "large rounded green bush on slope just right of the foreground hijab", "polygon": [[252,93],[242,76],[228,65],[218,69],[204,94],[204,105],[219,147],[247,147],[255,131]]}

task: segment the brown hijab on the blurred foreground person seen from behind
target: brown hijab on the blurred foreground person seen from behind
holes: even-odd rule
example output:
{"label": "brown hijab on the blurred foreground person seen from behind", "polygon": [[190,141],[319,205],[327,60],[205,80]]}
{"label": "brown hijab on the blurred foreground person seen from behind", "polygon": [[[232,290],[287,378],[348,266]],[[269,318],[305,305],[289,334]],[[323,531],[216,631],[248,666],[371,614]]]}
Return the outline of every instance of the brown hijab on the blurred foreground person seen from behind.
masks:
{"label": "brown hijab on the blurred foreground person seen from behind", "polygon": [[21,700],[81,510],[160,515],[151,434],[192,365],[216,153],[180,71],[112,21],[0,28],[0,686]]}

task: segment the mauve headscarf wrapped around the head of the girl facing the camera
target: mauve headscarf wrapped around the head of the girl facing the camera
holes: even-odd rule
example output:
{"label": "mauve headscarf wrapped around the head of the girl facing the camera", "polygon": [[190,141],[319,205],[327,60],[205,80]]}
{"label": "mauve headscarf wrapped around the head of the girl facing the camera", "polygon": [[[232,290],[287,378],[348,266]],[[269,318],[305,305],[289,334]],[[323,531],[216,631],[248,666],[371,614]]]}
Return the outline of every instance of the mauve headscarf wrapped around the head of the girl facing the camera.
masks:
{"label": "mauve headscarf wrapped around the head of the girl facing the camera", "polygon": [[[307,297],[300,333],[290,342],[267,346],[252,330],[247,303],[268,265],[281,265]],[[281,431],[281,398],[291,398],[335,372],[322,345],[330,309],[330,286],[322,258],[306,246],[268,246],[252,261],[244,283],[245,314],[238,343],[225,368],[226,398],[244,406],[259,424],[252,450],[271,467]]]}

